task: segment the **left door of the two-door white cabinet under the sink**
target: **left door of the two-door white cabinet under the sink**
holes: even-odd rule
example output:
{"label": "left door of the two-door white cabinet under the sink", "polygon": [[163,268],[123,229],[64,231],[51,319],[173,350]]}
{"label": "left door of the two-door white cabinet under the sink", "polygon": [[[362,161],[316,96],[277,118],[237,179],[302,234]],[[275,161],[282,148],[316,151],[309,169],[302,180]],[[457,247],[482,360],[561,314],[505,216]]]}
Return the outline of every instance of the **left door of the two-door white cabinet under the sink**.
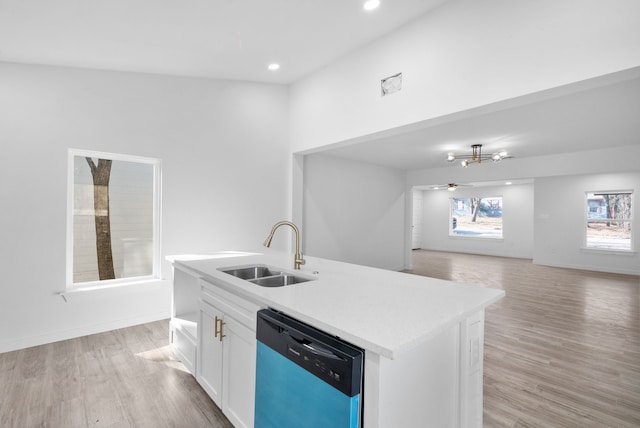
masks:
{"label": "left door of the two-door white cabinet under the sink", "polygon": [[[218,407],[222,407],[223,342],[220,340],[220,334],[216,334],[216,332],[220,329],[220,323],[223,322],[224,316],[214,306],[204,302],[201,305],[200,322],[198,323],[196,379]],[[222,327],[224,328],[224,326]]]}

